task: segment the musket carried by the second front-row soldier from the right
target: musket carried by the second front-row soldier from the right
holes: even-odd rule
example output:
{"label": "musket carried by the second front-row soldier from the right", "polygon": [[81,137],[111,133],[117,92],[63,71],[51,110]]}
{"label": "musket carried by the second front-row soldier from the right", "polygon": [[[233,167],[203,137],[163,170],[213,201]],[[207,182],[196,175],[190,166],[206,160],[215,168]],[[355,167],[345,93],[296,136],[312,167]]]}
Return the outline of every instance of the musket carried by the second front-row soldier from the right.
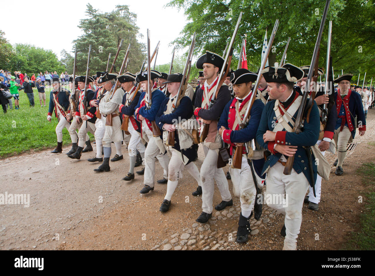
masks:
{"label": "musket carried by the second front-row soldier from the right", "polygon": [[[270,54],[272,44],[273,44],[273,41],[275,39],[275,35],[276,35],[277,30],[278,30],[278,27],[279,27],[279,20],[276,19],[275,25],[273,26],[273,30],[272,30],[272,33],[271,33],[270,40],[268,41],[267,50],[266,50],[266,53],[264,55],[264,59],[262,59],[262,62],[261,62],[261,65],[260,65],[259,74],[258,74],[257,80],[255,81],[255,85],[253,87],[253,91],[252,91],[252,94],[251,94],[251,98],[249,100],[248,107],[246,108],[246,112],[245,112],[245,115],[243,116],[241,124],[239,124],[239,130],[245,128],[249,123],[250,111],[251,111],[251,108],[254,104],[255,98],[257,96],[258,85],[259,85],[260,79],[262,77],[261,71],[266,66],[266,61],[267,61],[267,58]],[[232,164],[231,164],[231,166],[235,169],[241,169],[241,167],[242,167],[242,152],[243,152],[244,146],[245,146],[246,152],[248,152],[247,143],[244,143],[242,146],[236,146],[236,151],[234,152],[234,156],[232,158]],[[253,155],[253,153],[250,152],[249,155],[251,157]]]}

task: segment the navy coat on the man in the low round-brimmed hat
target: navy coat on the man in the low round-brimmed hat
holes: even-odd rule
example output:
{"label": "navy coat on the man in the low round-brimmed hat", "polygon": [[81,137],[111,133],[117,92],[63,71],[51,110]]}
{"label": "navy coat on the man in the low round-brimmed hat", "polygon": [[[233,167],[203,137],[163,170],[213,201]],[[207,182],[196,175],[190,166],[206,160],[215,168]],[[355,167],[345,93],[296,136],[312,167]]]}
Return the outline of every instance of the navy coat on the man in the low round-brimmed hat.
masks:
{"label": "navy coat on the man in the low round-brimmed hat", "polygon": [[[163,133],[163,125],[164,124],[175,124],[176,122],[181,122],[181,120],[190,119],[193,116],[193,103],[190,100],[189,97],[184,96],[181,98],[180,105],[177,107],[175,112],[170,114],[164,114],[167,108],[167,103],[169,101],[169,98],[166,98],[161,106],[159,111],[156,115],[156,125],[160,128],[161,133]],[[191,161],[194,160],[196,156],[195,149],[193,147],[190,147],[186,150],[180,149],[180,142],[178,140],[178,131],[184,131],[184,130],[177,130],[174,134],[174,146],[172,148],[176,149],[179,152],[182,152],[187,158],[189,158],[189,161],[187,164],[189,164]],[[162,138],[162,136],[160,136]]]}

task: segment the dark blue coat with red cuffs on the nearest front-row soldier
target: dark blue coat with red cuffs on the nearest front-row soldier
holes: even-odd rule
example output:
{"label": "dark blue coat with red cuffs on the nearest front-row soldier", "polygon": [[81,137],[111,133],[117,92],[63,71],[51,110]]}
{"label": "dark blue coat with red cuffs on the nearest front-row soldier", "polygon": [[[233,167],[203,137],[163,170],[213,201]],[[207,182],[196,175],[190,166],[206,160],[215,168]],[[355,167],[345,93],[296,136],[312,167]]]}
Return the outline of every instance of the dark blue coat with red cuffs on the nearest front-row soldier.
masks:
{"label": "dark blue coat with red cuffs on the nearest front-row soldier", "polygon": [[[263,134],[266,133],[267,130],[273,131],[274,122],[276,118],[275,111],[273,110],[275,106],[275,100],[269,101],[266,104],[266,107],[263,110],[262,117],[260,120],[259,128],[256,134],[258,143],[265,149],[268,149],[271,152],[271,155],[267,158],[266,162],[264,163],[264,167],[262,170],[262,174],[266,171],[268,167],[272,167],[276,164],[276,162],[280,159],[281,153],[275,152],[273,146],[275,142],[263,142]],[[293,120],[297,118],[297,113],[293,115]],[[293,162],[293,169],[297,173],[303,173],[306,178],[308,179],[310,186],[312,187],[317,180],[317,165],[315,164],[315,157],[312,155],[312,166],[314,171],[314,181],[312,181],[312,176],[309,169],[308,163],[308,156],[306,153],[305,148],[303,146],[314,146],[319,138],[319,130],[320,130],[320,116],[318,111],[318,106],[314,101],[314,105],[312,106],[309,122],[305,120],[304,127],[302,128],[302,132],[292,133],[287,131],[278,131],[276,133],[276,141],[280,141],[279,143],[282,145],[291,145],[297,146],[297,152],[294,154],[294,162]],[[283,142],[283,143],[281,143]],[[284,155],[285,156],[285,155]],[[285,156],[285,158],[288,158]],[[283,173],[283,172],[280,172]]]}

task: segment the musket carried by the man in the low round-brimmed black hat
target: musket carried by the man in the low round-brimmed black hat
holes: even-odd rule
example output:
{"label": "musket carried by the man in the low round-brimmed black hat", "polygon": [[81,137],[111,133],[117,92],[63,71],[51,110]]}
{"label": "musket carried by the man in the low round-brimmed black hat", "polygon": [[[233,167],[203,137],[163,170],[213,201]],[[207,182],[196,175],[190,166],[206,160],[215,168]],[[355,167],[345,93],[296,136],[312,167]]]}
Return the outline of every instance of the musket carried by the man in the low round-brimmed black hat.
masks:
{"label": "musket carried by the man in the low round-brimmed black hat", "polygon": [[[186,62],[185,62],[185,66],[184,66],[184,71],[182,73],[182,79],[181,79],[181,82],[180,82],[180,86],[178,86],[176,98],[174,100],[174,103],[172,104],[171,113],[173,113],[177,110],[177,107],[180,105],[180,101],[181,101],[182,97],[184,97],[184,95],[185,95],[185,91],[186,91],[186,88],[187,88],[187,81],[189,80],[189,74],[190,74],[193,52],[194,52],[194,48],[195,48],[195,37],[196,37],[196,32],[194,32],[193,38],[191,40],[189,53],[187,54]],[[168,143],[169,146],[174,146],[174,135],[175,135],[175,131],[168,132],[167,143]]]}

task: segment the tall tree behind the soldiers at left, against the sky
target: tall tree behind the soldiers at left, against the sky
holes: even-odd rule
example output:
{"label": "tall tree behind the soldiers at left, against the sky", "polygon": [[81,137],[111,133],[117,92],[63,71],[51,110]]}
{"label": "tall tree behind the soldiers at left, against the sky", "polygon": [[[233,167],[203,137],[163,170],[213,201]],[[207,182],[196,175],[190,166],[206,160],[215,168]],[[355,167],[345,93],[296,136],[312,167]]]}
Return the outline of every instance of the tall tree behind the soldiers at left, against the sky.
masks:
{"label": "tall tree behind the soldiers at left, against the sky", "polygon": [[[127,5],[117,5],[112,12],[100,13],[90,4],[87,4],[86,14],[89,17],[82,19],[78,26],[84,35],[74,41],[77,45],[78,74],[86,73],[90,44],[92,51],[89,67],[92,69],[90,74],[93,75],[96,71],[105,71],[109,53],[111,53],[109,68],[111,67],[121,39],[124,39],[124,42],[115,63],[116,71],[120,70],[130,43],[127,70],[138,72],[145,56],[145,45],[137,41],[137,38],[142,38],[142,35],[138,33],[139,28],[135,24],[136,14],[130,12]],[[72,63],[72,59],[68,60],[68,68],[73,68]]]}

